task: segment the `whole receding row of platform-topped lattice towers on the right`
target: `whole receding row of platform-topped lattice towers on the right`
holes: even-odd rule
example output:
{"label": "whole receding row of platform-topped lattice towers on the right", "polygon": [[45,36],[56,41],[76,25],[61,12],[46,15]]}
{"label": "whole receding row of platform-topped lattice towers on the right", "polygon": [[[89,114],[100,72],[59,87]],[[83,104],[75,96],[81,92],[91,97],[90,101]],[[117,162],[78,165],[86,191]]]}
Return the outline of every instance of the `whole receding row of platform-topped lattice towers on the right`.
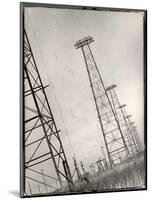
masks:
{"label": "whole receding row of platform-topped lattice towers on the right", "polygon": [[92,89],[97,115],[102,130],[106,157],[109,165],[120,163],[135,156],[143,149],[131,115],[126,112],[126,105],[120,104],[116,94],[116,85],[105,87],[93,57],[90,43],[94,39],[90,36],[78,40],[76,49],[81,48]]}

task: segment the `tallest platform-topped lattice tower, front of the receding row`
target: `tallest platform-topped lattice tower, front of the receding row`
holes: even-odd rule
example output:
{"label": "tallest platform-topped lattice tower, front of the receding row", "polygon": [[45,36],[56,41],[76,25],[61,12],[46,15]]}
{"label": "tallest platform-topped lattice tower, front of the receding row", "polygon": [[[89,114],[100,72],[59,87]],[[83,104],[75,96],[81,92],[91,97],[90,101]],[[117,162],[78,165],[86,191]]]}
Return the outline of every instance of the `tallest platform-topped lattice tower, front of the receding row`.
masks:
{"label": "tallest platform-topped lattice tower, front of the receding row", "polygon": [[112,167],[113,164],[120,162],[121,157],[127,158],[130,154],[117,116],[114,112],[101,74],[90,49],[90,43],[92,42],[94,42],[94,39],[88,36],[78,40],[74,46],[76,49],[81,48],[84,56],[108,161]]}

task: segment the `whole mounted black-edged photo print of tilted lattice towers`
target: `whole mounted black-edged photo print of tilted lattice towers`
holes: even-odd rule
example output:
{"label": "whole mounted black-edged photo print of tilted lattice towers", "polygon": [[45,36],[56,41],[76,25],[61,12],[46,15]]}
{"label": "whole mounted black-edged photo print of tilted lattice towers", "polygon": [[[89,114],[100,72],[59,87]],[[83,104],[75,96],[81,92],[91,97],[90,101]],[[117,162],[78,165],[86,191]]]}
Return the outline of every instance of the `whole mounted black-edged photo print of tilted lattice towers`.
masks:
{"label": "whole mounted black-edged photo print of tilted lattice towers", "polygon": [[146,189],[146,12],[21,3],[21,197]]}

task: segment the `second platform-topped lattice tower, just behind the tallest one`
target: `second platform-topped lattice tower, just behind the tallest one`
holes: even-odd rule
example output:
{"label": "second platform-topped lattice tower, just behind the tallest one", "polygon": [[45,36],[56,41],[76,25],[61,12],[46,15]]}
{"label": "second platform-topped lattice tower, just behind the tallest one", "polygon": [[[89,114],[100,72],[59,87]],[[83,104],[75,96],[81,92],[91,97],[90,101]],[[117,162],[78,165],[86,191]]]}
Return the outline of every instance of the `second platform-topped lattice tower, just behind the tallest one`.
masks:
{"label": "second platform-topped lattice tower, just behind the tallest one", "polygon": [[117,119],[119,121],[122,133],[124,135],[129,153],[131,156],[133,156],[134,154],[137,153],[137,146],[135,143],[135,138],[133,136],[132,130],[129,127],[129,124],[127,122],[126,116],[125,116],[125,112],[124,112],[124,107],[126,106],[124,105],[120,105],[118,96],[116,94],[115,88],[117,86],[116,85],[111,85],[109,87],[106,88],[106,91],[108,92],[109,98],[111,100],[114,112],[117,116]]}

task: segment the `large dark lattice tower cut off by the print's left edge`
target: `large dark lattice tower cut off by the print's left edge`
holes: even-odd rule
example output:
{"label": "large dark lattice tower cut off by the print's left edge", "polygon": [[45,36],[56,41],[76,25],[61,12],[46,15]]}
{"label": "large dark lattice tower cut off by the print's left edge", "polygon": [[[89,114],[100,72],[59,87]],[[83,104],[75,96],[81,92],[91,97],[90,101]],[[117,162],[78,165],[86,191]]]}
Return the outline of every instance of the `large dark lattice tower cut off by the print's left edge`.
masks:
{"label": "large dark lattice tower cut off by the print's left edge", "polygon": [[[30,194],[27,183],[34,194],[38,194],[37,183],[54,192],[56,181],[63,187],[63,180],[72,190],[72,178],[36,60],[24,31],[24,152],[25,193]],[[41,172],[41,169],[45,170]],[[42,175],[42,176],[41,176]],[[43,177],[43,178],[42,178]],[[44,181],[49,178],[49,182]],[[37,190],[35,189],[37,188]],[[30,189],[30,190],[31,190]]]}

